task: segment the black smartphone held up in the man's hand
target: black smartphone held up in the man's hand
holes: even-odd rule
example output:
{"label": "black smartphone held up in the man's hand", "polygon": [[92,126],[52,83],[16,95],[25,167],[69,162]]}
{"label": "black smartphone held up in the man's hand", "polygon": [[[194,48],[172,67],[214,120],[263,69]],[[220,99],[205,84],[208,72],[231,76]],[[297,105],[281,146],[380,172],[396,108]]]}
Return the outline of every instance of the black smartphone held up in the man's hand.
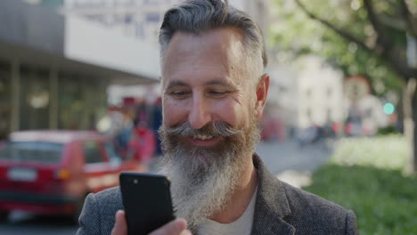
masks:
{"label": "black smartphone held up in the man's hand", "polygon": [[175,219],[164,175],[122,172],[119,177],[129,235],[145,235]]}

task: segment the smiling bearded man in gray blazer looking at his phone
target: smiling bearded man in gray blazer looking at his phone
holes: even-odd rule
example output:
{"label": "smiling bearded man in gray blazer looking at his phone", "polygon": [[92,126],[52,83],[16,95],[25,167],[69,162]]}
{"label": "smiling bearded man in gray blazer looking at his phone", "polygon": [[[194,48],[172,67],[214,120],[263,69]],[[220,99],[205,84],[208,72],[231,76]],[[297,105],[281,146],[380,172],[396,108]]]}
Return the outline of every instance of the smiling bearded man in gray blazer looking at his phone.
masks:
{"label": "smiling bearded man in gray blazer looking at his phone", "polygon": [[[220,0],[185,1],[166,12],[159,44],[159,173],[170,176],[184,219],[152,235],[357,234],[352,211],[280,182],[254,153],[270,78],[247,14]],[[127,234],[122,210],[119,188],[89,195],[78,234]]]}

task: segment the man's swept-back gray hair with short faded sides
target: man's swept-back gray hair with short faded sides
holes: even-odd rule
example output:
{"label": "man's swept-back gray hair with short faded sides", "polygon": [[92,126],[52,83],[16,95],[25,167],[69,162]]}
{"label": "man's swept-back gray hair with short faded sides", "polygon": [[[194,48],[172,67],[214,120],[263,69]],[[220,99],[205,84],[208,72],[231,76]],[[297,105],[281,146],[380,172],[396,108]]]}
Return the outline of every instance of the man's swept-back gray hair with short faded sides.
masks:
{"label": "man's swept-back gray hair with short faded sides", "polygon": [[262,75],[267,65],[262,31],[247,13],[235,9],[227,0],[187,0],[169,9],[159,29],[161,66],[169,41],[177,31],[198,35],[210,29],[227,27],[242,29],[243,44],[251,59],[247,69],[256,71],[257,76]]}

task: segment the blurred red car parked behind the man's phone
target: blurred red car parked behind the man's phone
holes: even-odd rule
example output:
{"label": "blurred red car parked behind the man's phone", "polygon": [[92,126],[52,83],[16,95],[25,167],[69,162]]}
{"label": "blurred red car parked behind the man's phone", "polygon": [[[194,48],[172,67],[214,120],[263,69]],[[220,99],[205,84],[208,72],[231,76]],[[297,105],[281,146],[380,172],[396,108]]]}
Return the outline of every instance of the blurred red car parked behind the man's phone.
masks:
{"label": "blurred red car parked behind the man's phone", "polygon": [[25,131],[0,145],[0,221],[12,210],[72,215],[89,192],[119,184],[120,171],[144,171],[122,160],[109,137],[89,131]]}

